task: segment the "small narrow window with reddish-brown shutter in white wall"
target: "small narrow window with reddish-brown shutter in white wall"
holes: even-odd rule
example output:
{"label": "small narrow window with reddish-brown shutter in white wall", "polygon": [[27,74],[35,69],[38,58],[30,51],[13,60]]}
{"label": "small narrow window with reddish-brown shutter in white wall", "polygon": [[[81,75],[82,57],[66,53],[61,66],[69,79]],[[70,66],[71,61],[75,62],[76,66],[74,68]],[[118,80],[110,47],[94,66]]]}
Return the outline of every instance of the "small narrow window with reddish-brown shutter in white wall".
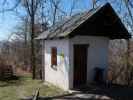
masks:
{"label": "small narrow window with reddish-brown shutter in white wall", "polygon": [[57,65],[57,48],[51,48],[51,65]]}

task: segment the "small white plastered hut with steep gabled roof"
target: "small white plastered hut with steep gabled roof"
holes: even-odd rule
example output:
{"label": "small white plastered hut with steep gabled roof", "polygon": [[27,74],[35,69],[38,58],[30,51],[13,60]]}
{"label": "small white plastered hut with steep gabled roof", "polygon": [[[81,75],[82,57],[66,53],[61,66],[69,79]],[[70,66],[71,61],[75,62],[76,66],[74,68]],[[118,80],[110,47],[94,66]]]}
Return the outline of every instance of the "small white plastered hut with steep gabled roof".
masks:
{"label": "small white plastered hut with steep gabled roof", "polygon": [[37,38],[45,81],[67,90],[106,80],[109,40],[130,37],[109,3],[58,23]]}

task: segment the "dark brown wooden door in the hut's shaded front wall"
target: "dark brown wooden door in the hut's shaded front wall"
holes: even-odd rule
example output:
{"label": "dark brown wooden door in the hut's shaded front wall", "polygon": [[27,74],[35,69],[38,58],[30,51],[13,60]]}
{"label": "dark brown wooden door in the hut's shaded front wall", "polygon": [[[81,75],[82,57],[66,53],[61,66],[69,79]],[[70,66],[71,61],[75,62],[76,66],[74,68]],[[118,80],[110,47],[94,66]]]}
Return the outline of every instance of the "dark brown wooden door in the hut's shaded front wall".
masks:
{"label": "dark brown wooden door in the hut's shaded front wall", "polygon": [[86,85],[88,45],[74,45],[74,88]]}

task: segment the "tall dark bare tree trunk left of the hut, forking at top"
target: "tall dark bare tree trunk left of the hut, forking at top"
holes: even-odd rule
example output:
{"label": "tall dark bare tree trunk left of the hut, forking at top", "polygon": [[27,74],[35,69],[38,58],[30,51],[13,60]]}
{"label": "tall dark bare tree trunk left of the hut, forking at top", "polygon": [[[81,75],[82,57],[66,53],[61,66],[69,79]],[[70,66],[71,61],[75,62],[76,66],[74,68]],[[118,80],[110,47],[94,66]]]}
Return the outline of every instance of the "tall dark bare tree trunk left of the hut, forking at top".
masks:
{"label": "tall dark bare tree trunk left of the hut, forking at top", "polygon": [[30,43],[31,43],[31,66],[32,66],[32,78],[36,77],[36,56],[35,56],[35,15],[37,9],[41,3],[41,0],[23,0],[24,8],[26,9],[27,14],[30,17],[31,22],[31,32],[30,32]]}

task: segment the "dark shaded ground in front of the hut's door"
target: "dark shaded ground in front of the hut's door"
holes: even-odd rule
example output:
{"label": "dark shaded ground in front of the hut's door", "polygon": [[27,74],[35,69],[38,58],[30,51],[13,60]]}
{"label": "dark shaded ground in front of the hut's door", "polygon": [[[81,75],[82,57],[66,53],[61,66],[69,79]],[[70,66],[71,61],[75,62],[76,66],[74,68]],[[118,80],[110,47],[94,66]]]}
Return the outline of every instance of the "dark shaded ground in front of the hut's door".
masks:
{"label": "dark shaded ground in front of the hut's door", "polygon": [[39,100],[133,100],[133,87],[89,86],[67,95],[40,97]]}

